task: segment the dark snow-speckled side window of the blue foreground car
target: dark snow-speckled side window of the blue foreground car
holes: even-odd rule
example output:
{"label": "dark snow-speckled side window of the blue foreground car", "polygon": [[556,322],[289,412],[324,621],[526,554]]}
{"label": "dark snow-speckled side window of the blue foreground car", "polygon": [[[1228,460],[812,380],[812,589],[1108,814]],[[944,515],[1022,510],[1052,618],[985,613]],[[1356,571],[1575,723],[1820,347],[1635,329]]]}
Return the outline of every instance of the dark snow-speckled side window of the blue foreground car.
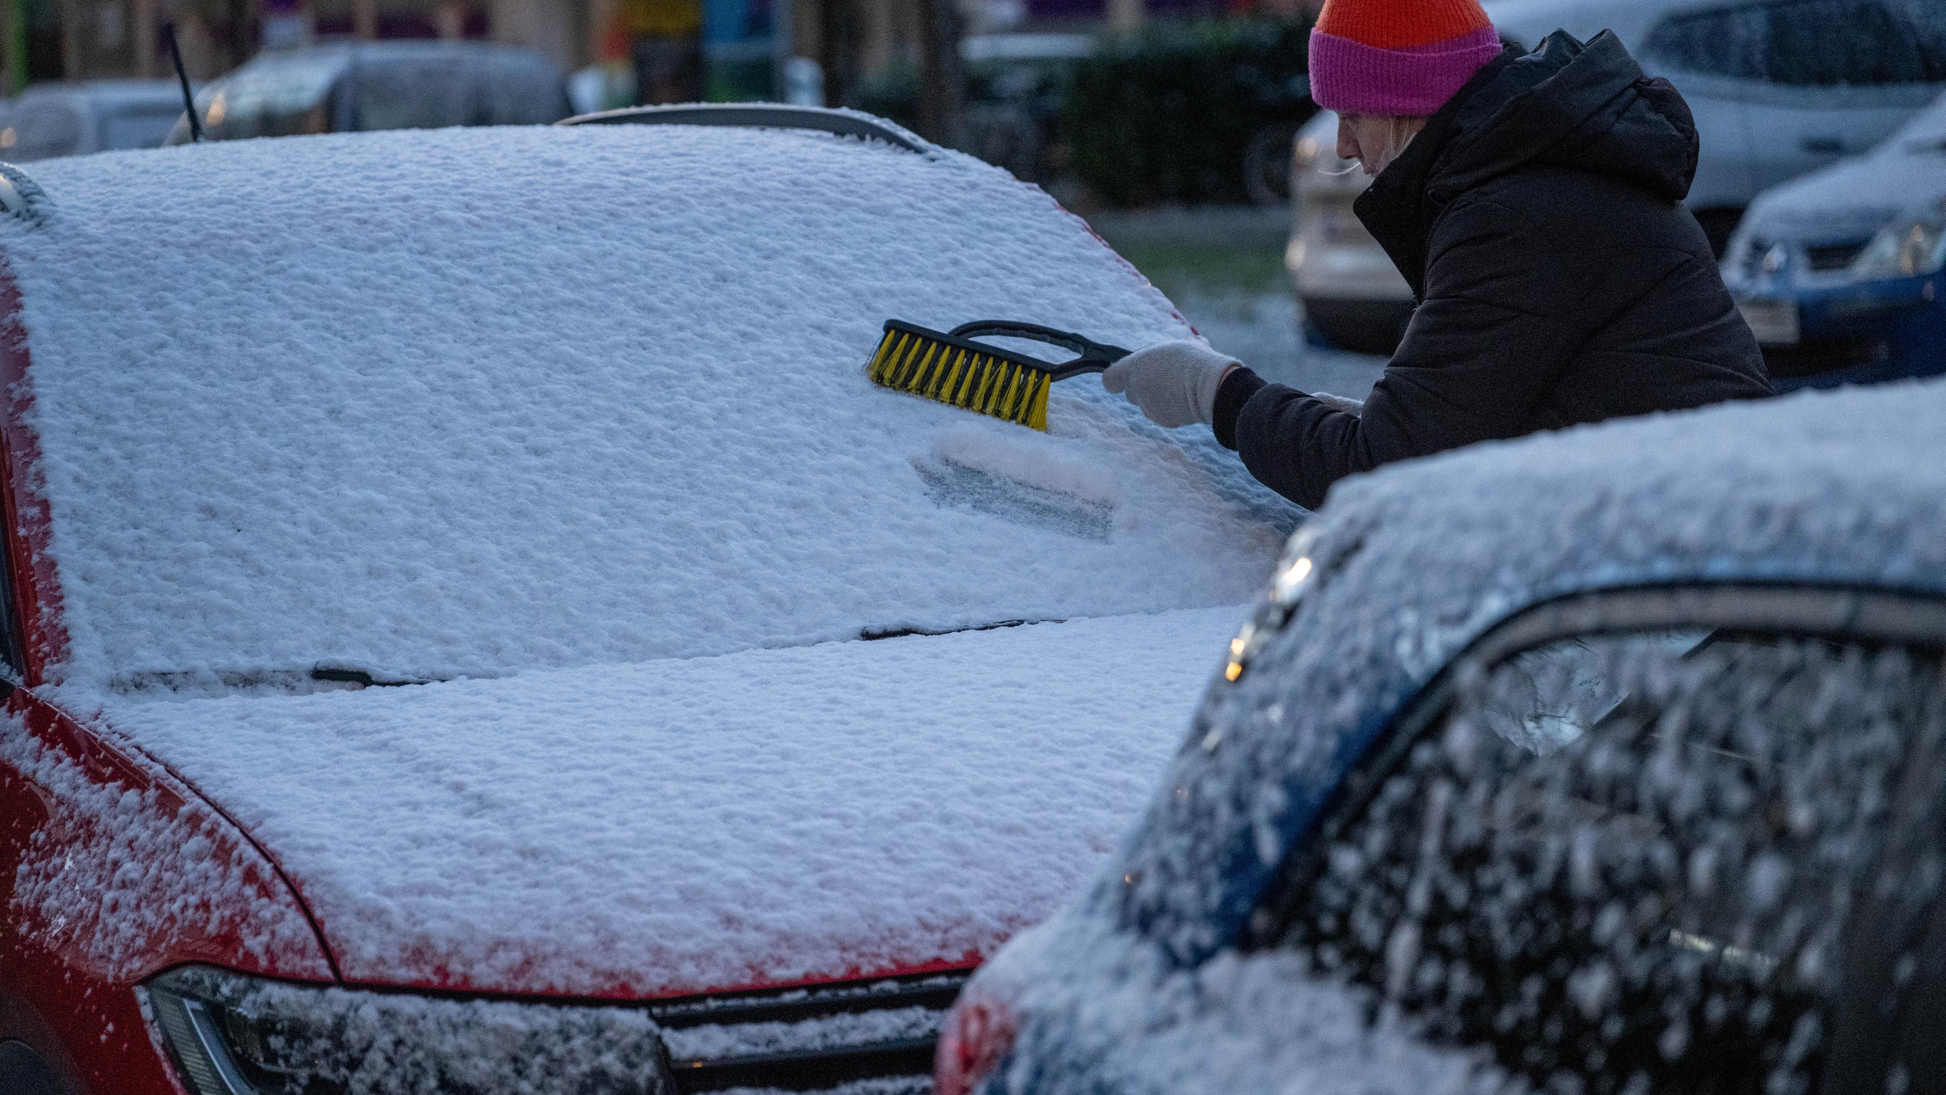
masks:
{"label": "dark snow-speckled side window of the blue foreground car", "polygon": [[1327,818],[1280,945],[1547,1091],[1812,1091],[1855,890],[1942,740],[1936,651],[1543,647],[1461,672]]}

